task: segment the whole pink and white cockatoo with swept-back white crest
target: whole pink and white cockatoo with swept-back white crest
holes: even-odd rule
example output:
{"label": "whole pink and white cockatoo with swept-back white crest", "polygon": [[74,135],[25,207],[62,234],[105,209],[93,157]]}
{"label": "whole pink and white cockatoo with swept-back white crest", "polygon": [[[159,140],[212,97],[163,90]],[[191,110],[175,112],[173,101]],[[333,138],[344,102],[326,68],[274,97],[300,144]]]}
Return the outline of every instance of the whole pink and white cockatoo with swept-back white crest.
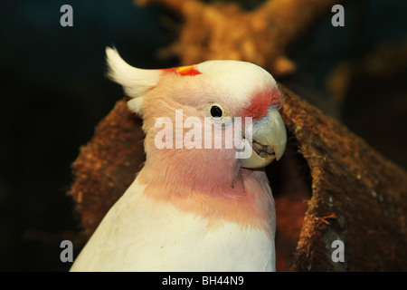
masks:
{"label": "whole pink and white cockatoo with swept-back white crest", "polygon": [[109,77],[143,118],[146,163],[71,271],[275,271],[262,168],[281,158],[287,134],[270,73],[239,61],[144,70],[106,53]]}

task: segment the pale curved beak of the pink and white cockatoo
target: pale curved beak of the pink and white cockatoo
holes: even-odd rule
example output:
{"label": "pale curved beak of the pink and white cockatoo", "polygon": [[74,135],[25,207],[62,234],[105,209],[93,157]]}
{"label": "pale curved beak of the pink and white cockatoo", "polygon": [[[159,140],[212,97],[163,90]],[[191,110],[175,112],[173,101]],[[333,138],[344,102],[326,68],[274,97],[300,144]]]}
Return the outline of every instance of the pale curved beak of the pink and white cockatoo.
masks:
{"label": "pale curved beak of the pink and white cockatoo", "polygon": [[253,123],[251,138],[246,136],[243,141],[245,149],[251,150],[251,154],[248,158],[240,159],[241,167],[258,169],[279,160],[287,144],[286,126],[279,111],[270,108],[267,116]]}

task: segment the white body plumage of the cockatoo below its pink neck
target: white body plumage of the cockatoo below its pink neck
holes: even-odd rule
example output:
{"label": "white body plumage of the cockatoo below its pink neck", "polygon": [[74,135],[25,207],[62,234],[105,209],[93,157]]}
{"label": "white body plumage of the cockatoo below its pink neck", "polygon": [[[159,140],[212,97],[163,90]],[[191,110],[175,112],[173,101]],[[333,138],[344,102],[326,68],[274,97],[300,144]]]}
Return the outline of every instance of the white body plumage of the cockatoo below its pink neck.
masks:
{"label": "white body plumage of the cockatoo below its pink neck", "polygon": [[71,271],[274,271],[274,239],[259,228],[197,217],[148,198],[136,181],[103,219]]}

